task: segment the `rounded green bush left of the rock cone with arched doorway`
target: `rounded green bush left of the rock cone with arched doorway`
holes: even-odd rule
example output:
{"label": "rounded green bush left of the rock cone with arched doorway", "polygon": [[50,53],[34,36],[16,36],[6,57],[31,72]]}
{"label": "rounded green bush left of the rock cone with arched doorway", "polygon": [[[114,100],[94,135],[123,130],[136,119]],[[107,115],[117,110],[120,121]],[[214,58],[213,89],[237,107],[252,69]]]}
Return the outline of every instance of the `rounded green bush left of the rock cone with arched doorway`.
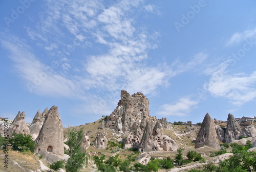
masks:
{"label": "rounded green bush left of the rock cone with arched doorway", "polygon": [[13,133],[13,136],[9,138],[9,143],[12,144],[14,150],[18,150],[20,152],[34,152],[37,146],[36,143],[32,140],[31,135],[22,133]]}

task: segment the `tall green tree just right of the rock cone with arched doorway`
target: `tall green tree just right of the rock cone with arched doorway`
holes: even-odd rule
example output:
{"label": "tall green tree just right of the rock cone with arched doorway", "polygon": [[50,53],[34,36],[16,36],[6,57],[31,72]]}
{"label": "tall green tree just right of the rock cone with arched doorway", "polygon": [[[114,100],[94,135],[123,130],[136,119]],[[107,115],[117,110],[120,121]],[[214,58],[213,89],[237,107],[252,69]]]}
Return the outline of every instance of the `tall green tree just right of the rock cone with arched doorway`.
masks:
{"label": "tall green tree just right of the rock cone with arched doorway", "polygon": [[82,165],[84,161],[86,160],[86,153],[81,152],[81,140],[82,140],[82,130],[79,132],[70,132],[69,133],[69,140],[67,141],[67,144],[69,145],[69,156],[67,164],[65,165],[65,168],[67,172],[77,172],[80,168],[82,168]]}

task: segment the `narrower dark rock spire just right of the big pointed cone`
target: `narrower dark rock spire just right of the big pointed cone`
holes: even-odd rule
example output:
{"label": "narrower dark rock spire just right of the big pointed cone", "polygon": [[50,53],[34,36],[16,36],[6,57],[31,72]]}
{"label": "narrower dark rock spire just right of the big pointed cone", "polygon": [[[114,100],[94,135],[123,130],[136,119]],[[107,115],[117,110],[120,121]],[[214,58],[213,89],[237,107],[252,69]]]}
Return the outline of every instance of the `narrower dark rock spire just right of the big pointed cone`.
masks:
{"label": "narrower dark rock spire just right of the big pointed cone", "polygon": [[241,127],[232,114],[228,114],[227,128],[225,132],[225,142],[230,143],[233,140],[238,140],[241,135]]}

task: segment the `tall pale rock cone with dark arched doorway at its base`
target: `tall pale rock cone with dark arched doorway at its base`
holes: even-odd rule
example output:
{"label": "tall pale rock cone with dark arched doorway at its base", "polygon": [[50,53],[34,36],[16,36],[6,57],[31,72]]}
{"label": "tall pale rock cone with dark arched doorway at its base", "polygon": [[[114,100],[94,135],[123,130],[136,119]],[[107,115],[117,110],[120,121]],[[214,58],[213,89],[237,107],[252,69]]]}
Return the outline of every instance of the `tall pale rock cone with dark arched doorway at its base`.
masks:
{"label": "tall pale rock cone with dark arched doorway at its base", "polygon": [[35,142],[38,144],[36,152],[47,162],[53,163],[63,158],[63,126],[57,106],[52,106],[47,113]]}

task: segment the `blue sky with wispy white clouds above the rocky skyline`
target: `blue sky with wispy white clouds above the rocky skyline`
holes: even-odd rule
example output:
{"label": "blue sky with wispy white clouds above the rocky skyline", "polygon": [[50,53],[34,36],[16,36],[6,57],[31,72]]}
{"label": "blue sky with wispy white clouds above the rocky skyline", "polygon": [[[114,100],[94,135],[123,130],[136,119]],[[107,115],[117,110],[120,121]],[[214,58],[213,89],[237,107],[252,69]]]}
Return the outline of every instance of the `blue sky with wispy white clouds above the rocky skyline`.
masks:
{"label": "blue sky with wispy white clouds above the rocky skyline", "polygon": [[167,121],[256,116],[255,1],[0,2],[0,116],[63,126],[142,92]]}

